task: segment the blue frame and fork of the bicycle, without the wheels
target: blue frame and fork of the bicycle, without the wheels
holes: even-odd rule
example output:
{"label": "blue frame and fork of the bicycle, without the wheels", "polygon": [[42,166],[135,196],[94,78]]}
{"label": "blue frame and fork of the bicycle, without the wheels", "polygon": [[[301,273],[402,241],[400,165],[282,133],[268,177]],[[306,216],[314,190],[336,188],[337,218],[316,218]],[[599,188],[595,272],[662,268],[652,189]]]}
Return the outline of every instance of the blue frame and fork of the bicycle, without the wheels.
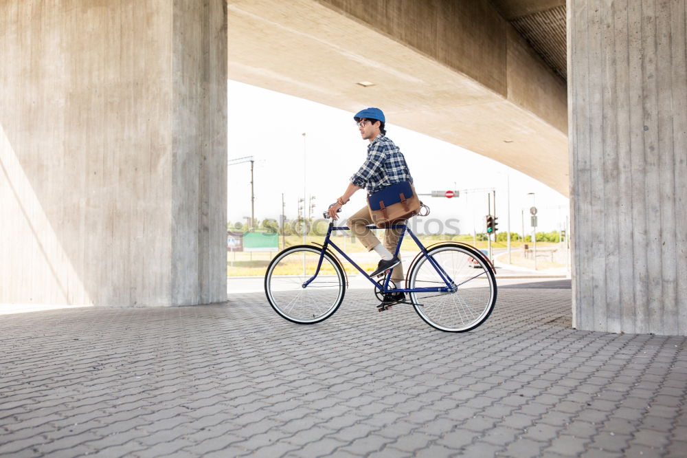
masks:
{"label": "blue frame and fork of the bicycle, without the wheels", "polygon": [[[396,245],[396,251],[394,252],[394,256],[398,256],[398,252],[401,250],[401,243],[403,243],[403,237],[405,236],[405,232],[408,232],[410,234],[410,237],[413,238],[415,243],[417,244],[418,248],[420,248],[420,252],[423,253],[424,257],[427,258],[429,263],[431,263],[432,267],[436,270],[436,272],[439,274],[441,277],[442,281],[446,284],[446,286],[434,286],[434,287],[423,287],[423,288],[394,288],[392,290],[388,290],[387,288],[389,287],[389,282],[391,280],[391,272],[386,274],[384,278],[384,282],[381,287],[381,292],[382,293],[387,293],[387,292],[455,292],[458,290],[458,286],[455,285],[455,282],[449,274],[447,274],[446,271],[439,265],[439,263],[432,257],[429,252],[427,252],[427,249],[425,246],[423,246],[422,243],[420,243],[420,240],[416,237],[415,234],[413,234],[413,231],[410,230],[410,228],[407,227],[407,225],[398,225],[398,226],[390,226],[391,228],[394,229],[401,229],[401,235],[398,237],[398,244]],[[370,229],[376,229],[376,226],[368,226]],[[359,265],[355,263],[346,253],[341,250],[337,246],[336,243],[330,240],[330,237],[332,235],[332,231],[334,230],[350,230],[347,226],[339,226],[335,227],[334,223],[329,223],[329,229],[327,230],[327,235],[324,238],[324,243],[322,245],[322,252],[319,255],[319,262],[317,263],[317,269],[315,270],[315,274],[308,279],[305,283],[303,283],[303,287],[307,287],[313,280],[315,280],[315,277],[317,277],[317,274],[319,274],[319,268],[322,267],[322,260],[324,259],[324,253],[327,251],[328,246],[332,246],[341,256],[346,258],[346,261],[348,261],[354,268],[356,268],[363,276],[365,276],[366,279],[374,285],[374,287],[379,287],[379,283],[374,281],[372,277],[370,277],[367,272],[362,270]]]}

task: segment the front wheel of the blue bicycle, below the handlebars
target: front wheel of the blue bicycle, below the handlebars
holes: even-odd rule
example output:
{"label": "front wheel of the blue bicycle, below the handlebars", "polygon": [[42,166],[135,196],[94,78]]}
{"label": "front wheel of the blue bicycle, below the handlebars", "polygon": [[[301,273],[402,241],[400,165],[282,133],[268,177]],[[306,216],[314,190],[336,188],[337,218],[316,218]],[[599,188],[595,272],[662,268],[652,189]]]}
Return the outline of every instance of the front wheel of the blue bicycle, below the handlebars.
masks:
{"label": "front wheel of the blue bicycle, below the handlebars", "polygon": [[329,253],[322,255],[322,248],[299,245],[274,257],[264,275],[264,292],[269,305],[283,318],[311,325],[337,311],[346,281],[343,268]]}

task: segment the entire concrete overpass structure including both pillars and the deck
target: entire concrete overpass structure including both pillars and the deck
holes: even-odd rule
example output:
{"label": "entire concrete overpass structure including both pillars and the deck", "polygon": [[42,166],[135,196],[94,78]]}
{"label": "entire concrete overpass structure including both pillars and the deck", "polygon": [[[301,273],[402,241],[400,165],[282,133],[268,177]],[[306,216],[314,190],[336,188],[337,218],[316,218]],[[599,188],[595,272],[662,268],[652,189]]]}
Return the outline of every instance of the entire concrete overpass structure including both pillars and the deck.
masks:
{"label": "entire concrete overpass structure including both pillars and the deck", "polygon": [[222,301],[229,77],[569,195],[575,325],[686,335],[686,1],[5,1],[0,303]]}

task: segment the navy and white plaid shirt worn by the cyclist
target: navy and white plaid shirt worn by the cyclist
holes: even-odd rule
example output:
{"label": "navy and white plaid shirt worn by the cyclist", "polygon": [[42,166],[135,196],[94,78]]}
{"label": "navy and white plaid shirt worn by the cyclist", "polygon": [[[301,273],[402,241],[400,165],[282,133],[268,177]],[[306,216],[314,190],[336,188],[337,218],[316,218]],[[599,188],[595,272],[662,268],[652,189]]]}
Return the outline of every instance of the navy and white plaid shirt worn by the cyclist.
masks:
{"label": "navy and white plaid shirt worn by the cyclist", "polygon": [[389,138],[382,133],[368,145],[368,158],[360,170],[350,177],[350,182],[365,188],[368,194],[390,184],[413,181],[405,163],[403,153]]}

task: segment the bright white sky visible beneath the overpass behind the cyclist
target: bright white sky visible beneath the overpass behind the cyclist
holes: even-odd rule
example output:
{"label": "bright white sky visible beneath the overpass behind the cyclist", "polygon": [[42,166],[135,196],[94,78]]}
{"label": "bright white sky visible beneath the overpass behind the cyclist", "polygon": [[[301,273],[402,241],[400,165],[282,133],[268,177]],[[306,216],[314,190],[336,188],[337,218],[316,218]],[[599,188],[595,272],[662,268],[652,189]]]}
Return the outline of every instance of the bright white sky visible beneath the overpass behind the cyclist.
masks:
{"label": "bright white sky visible beneath the overpass behind the cyclist", "polygon": [[[354,113],[232,80],[228,103],[229,160],[254,157],[257,219],[278,219],[282,194],[287,219],[297,217],[298,199],[303,195],[308,201],[313,198],[314,215],[322,216],[365,160],[368,140],[361,139]],[[508,226],[508,201],[511,232],[522,232],[524,220],[526,233],[531,233],[533,203],[538,210],[537,232],[565,227],[570,204],[552,188],[488,157],[395,126],[388,116],[386,130],[387,137],[405,155],[418,194],[470,190],[453,199],[420,196],[431,214],[420,219],[419,232],[436,232],[442,224],[447,226],[449,219],[451,228],[458,228],[460,233],[484,232],[484,216],[488,214],[484,189],[489,188],[496,191],[499,231],[505,232]],[[250,164],[230,165],[227,181],[227,219],[235,222],[249,217]],[[341,215],[345,219],[363,206],[365,192],[359,190]]]}

